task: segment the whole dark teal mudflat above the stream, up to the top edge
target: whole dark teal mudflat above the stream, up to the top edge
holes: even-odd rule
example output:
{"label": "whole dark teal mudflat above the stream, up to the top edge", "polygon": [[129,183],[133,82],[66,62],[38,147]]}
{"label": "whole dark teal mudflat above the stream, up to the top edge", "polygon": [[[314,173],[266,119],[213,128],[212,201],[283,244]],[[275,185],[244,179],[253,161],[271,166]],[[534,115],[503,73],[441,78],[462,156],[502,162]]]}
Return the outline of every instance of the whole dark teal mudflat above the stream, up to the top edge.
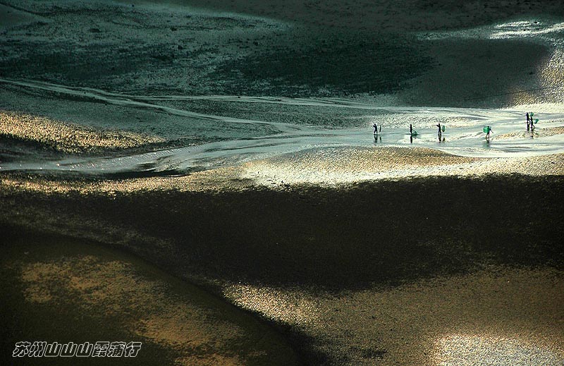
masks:
{"label": "whole dark teal mudflat above the stream, up to the top edge", "polygon": [[557,0],[275,3],[5,1],[0,71],[129,94],[563,102]]}

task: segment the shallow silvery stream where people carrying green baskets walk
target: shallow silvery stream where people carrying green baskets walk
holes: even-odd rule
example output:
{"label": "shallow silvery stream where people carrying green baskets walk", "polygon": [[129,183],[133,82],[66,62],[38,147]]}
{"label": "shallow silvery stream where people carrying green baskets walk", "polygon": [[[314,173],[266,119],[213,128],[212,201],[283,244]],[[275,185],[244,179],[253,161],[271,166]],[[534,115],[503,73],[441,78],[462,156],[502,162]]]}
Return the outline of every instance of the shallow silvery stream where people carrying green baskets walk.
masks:
{"label": "shallow silvery stream where people carrying green baskets walk", "polygon": [[[147,150],[153,151],[136,151],[135,154],[120,154],[118,157],[110,153],[97,157],[68,154],[53,159],[39,153],[16,161],[2,162],[2,171],[183,174],[321,147],[429,147],[462,157],[526,157],[564,152],[564,134],[555,130],[564,121],[564,110],[560,105],[530,106],[537,111],[534,118],[539,118],[537,128],[534,133],[530,133],[525,129],[526,109],[391,107],[353,99],[331,98],[144,97],[50,83],[5,79],[0,82],[39,93],[56,92],[63,99],[80,97],[102,102],[103,108],[119,106],[128,109],[133,115],[136,111],[157,111],[164,114],[165,118],[180,118],[179,135],[190,132],[191,121],[200,121],[211,126],[207,131],[202,131],[202,134],[207,133],[209,140],[212,140],[205,142],[206,138],[203,138],[204,143],[190,141],[184,142],[184,145],[190,146],[156,151],[152,147]],[[175,108],[167,105],[175,101],[185,102],[185,106]],[[208,111],[214,109],[215,103],[224,105],[221,106],[219,115],[194,112],[190,108],[190,103],[193,102],[200,103],[200,107],[204,104]],[[285,122],[280,121],[281,108],[284,109]],[[545,112],[545,109],[548,111]],[[257,114],[261,120],[237,116],[252,115],[255,110],[259,111]],[[303,121],[303,116],[308,113],[316,117],[314,123]],[[185,126],[182,126],[183,118]],[[377,135],[373,133],[373,123],[381,126]],[[441,139],[436,123],[446,126]],[[88,124],[89,127],[99,128],[95,123]],[[148,124],[157,135],[173,140],[171,135],[160,133],[162,127],[159,126],[159,120],[149,121]],[[410,124],[417,135],[410,135]],[[114,121],[114,126],[121,130],[138,131],[127,118]],[[489,141],[482,131],[484,126],[492,128],[493,134]],[[104,129],[101,128],[100,131]],[[222,131],[223,137],[219,141],[213,141],[217,137],[217,131]]]}

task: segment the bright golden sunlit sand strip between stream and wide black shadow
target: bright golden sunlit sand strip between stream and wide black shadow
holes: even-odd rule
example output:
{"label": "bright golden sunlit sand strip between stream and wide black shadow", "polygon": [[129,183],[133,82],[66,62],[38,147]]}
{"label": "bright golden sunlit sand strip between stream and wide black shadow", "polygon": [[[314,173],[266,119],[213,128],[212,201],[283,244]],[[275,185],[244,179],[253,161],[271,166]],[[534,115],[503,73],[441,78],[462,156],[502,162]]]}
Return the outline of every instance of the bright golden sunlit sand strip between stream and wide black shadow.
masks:
{"label": "bright golden sunlit sand strip between stream and wide black shadow", "polygon": [[288,185],[302,184],[345,187],[363,181],[514,173],[525,176],[560,175],[564,173],[564,154],[534,158],[477,158],[458,157],[420,147],[333,147],[197,171],[188,176],[121,179],[116,175],[112,179],[85,179],[49,174],[30,177],[22,173],[6,173],[0,176],[0,184],[6,188],[44,193],[115,194],[133,193],[137,190],[286,189]]}

